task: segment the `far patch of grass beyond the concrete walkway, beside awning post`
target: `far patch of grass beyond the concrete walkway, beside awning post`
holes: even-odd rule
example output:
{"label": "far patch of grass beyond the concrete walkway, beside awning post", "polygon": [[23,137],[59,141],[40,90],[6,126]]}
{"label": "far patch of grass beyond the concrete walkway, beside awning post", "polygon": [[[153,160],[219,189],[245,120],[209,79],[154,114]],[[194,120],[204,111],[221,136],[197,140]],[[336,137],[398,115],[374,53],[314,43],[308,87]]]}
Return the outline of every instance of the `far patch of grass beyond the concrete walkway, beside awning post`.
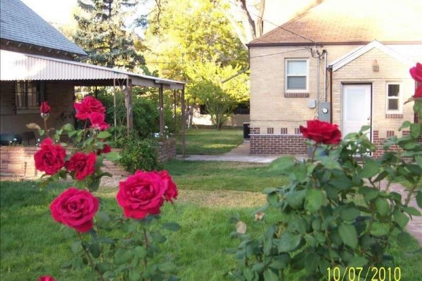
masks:
{"label": "far patch of grass beyond the concrete walkway, beside awning post", "polygon": [[[186,131],[186,155],[219,155],[243,142],[241,129],[189,129]],[[181,154],[180,136],[177,154]]]}

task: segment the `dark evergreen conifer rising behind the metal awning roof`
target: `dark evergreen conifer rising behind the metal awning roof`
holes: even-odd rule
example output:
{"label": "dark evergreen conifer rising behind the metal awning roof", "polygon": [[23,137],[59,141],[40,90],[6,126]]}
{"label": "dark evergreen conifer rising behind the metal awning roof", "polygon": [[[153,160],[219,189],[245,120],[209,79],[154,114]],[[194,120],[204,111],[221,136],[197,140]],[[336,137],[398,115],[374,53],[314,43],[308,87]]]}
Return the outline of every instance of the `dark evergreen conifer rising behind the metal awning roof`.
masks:
{"label": "dark evergreen conifer rising behind the metal awning roof", "polygon": [[135,51],[134,32],[128,32],[124,21],[134,13],[137,0],[78,0],[75,13],[75,42],[87,52],[87,61],[106,67],[133,70],[144,64]]}

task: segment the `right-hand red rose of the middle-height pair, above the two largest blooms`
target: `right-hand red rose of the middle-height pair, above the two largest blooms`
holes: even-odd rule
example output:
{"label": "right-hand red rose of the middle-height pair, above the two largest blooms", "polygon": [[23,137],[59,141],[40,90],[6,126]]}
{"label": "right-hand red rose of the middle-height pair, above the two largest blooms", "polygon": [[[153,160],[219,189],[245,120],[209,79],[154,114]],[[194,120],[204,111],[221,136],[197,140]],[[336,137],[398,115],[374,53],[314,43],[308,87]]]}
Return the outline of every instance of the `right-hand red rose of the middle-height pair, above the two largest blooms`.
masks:
{"label": "right-hand red rose of the middle-height pair, above the two largest blooms", "polygon": [[76,152],[69,161],[66,162],[65,166],[69,171],[75,171],[75,178],[78,181],[82,181],[87,176],[94,174],[95,171],[96,156],[94,152],[85,154],[82,152]]}

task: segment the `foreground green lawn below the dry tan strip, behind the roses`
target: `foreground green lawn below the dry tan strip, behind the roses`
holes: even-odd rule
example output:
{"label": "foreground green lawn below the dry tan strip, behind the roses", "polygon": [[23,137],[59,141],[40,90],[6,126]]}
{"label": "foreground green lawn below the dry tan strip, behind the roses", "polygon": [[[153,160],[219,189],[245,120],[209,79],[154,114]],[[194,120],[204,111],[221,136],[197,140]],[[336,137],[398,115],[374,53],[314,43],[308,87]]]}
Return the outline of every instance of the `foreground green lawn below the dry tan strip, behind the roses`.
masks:
{"label": "foreground green lawn below the dry tan strip, behind the roses", "polygon": [[[87,271],[63,271],[60,265],[72,257],[70,241],[75,233],[68,228],[60,230],[49,212],[49,204],[63,191],[63,185],[38,190],[31,182],[1,182],[1,263],[0,279],[36,280],[50,274],[60,281],[89,280]],[[103,198],[103,208],[118,209],[110,190],[97,192]],[[174,257],[183,280],[227,280],[224,273],[236,266],[236,259],[224,252],[239,243],[229,233],[234,226],[229,218],[238,213],[248,225],[248,233],[257,235],[265,223],[252,221],[252,208],[216,209],[191,203],[166,204],[162,221],[178,221],[182,228],[168,233],[162,251]],[[267,223],[279,218],[274,210],[265,216]],[[416,249],[417,244],[411,245]],[[404,258],[393,244],[390,254],[395,256],[402,270],[402,280],[421,280],[421,259],[418,254]],[[296,275],[295,275],[296,276]],[[290,276],[288,280],[300,280]]]}

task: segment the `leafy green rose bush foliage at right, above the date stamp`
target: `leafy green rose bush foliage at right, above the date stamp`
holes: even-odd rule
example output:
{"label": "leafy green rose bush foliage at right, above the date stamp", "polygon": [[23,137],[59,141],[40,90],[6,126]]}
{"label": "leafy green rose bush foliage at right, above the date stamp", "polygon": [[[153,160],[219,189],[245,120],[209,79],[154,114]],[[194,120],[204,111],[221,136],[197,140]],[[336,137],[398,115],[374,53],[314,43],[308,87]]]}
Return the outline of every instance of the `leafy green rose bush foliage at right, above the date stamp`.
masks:
{"label": "leafy green rose bush foliage at right, above the date stamp", "polygon": [[[416,100],[415,112],[422,116],[422,100]],[[375,145],[362,128],[351,133],[336,147],[320,145],[326,156],[298,162],[281,157],[271,164],[272,171],[288,176],[290,183],[269,188],[268,204],[282,216],[278,222],[253,238],[241,235],[236,251],[239,267],[229,275],[235,280],[289,280],[300,271],[300,280],[328,280],[330,270],[362,267],[395,268],[390,256],[397,241],[407,254],[414,252],[405,227],[411,216],[421,216],[409,207],[412,196],[422,207],[421,123],[404,124],[410,134],[389,138],[381,159],[370,152]],[[318,143],[312,144],[314,150]],[[401,151],[388,150],[397,145]],[[381,190],[395,178],[405,178],[409,193],[402,195]],[[381,226],[380,231],[376,226]]]}

